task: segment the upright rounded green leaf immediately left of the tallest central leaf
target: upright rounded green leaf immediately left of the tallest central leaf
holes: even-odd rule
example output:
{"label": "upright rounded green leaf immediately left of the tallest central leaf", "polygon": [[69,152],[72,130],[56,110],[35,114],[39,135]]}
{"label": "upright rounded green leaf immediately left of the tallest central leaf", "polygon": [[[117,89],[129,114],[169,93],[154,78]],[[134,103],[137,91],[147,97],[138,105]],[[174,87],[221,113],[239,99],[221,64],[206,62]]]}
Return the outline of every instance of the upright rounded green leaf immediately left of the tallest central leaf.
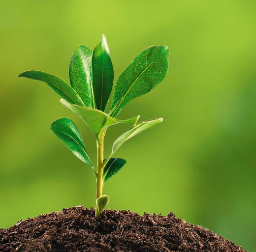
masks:
{"label": "upright rounded green leaf immediately left of the tallest central leaf", "polygon": [[69,78],[71,86],[79,94],[85,106],[95,108],[92,54],[92,51],[83,45],[75,50],[69,63]]}

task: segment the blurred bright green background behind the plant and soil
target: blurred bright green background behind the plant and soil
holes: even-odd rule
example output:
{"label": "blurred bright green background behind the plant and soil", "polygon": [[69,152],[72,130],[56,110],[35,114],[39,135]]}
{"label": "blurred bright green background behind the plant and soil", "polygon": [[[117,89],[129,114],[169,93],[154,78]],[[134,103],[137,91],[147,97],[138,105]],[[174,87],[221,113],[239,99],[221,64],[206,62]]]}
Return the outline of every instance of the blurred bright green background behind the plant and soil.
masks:
{"label": "blurred bright green background behind the plant and soil", "polygon": [[[74,49],[93,49],[104,33],[115,80],[144,48],[171,51],[165,81],[119,115],[164,121],[118,151],[128,163],[105,185],[108,207],[171,211],[256,251],[255,13],[253,0],[1,1],[0,227],[95,205],[92,170],[49,125],[73,119],[91,156],[93,136],[46,84],[17,76],[37,69],[68,81]],[[108,151],[123,130],[109,131]]]}

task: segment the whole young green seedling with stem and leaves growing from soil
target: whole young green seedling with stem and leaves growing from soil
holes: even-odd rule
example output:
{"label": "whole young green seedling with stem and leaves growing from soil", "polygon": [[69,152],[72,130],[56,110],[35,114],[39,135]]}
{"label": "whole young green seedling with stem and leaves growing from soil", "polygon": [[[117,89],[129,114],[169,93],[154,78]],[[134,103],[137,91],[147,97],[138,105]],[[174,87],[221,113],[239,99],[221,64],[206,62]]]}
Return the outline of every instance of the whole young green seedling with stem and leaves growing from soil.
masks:
{"label": "whole young green seedling with stem and leaves growing from soil", "polygon": [[[126,120],[117,119],[116,116],[129,101],[149,92],[165,78],[168,55],[167,46],[157,45],[146,48],[136,56],[117,79],[108,113],[106,110],[114,72],[104,35],[93,51],[83,45],[75,50],[69,64],[70,85],[55,75],[41,71],[30,70],[19,75],[47,83],[62,97],[61,103],[78,115],[94,134],[96,166],[72,120],[64,117],[51,124],[52,131],[64,145],[93,168],[96,176],[96,216],[100,215],[109,201],[107,195],[102,195],[104,183],[126,164],[126,160],[114,157],[116,151],[128,139],[162,121],[162,118],[157,118],[138,122],[139,115]],[[126,124],[130,128],[115,140],[110,155],[104,157],[104,137],[108,127],[115,124]]]}

